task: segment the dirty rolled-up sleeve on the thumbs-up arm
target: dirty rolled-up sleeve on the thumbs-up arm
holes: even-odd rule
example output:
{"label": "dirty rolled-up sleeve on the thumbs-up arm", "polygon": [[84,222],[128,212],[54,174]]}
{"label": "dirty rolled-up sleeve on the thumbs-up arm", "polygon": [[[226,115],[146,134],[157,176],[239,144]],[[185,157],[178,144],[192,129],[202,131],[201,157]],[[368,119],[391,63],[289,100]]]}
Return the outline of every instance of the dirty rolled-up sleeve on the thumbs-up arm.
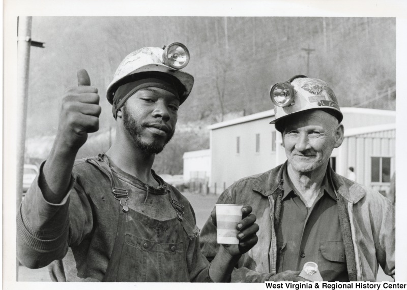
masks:
{"label": "dirty rolled-up sleeve on the thumbs-up arm", "polygon": [[[43,174],[42,167],[39,175]],[[68,194],[60,204],[45,200],[38,180],[39,176],[17,211],[17,258],[32,269],[62,259],[68,247],[79,243],[93,226],[90,203],[73,176]]]}

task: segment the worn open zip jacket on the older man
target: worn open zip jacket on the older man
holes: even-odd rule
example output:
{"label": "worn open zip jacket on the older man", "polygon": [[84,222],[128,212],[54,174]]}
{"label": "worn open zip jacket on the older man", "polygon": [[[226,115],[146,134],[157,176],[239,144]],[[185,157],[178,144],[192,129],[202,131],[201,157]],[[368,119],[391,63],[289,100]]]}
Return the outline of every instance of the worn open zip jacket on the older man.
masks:
{"label": "worn open zip jacket on the older man", "polygon": [[[243,178],[228,187],[219,197],[219,204],[251,205],[260,228],[257,232],[257,244],[242,255],[237,269],[232,273],[232,282],[263,282],[276,274],[275,224],[280,217],[277,197],[283,190],[282,169],[283,165],[280,165],[263,174]],[[350,279],[374,281],[377,263],[387,275],[394,278],[393,205],[379,192],[333,171],[331,175],[338,193],[338,213]],[[202,228],[200,244],[202,253],[211,261],[218,245],[216,228],[210,219]]]}

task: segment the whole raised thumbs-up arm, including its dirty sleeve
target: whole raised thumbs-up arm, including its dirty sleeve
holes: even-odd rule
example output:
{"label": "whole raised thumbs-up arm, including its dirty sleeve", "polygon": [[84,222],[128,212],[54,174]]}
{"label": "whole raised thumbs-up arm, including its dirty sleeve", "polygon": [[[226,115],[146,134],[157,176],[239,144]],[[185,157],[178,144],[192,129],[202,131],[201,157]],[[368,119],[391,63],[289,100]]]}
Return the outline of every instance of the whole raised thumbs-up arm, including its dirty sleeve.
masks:
{"label": "whole raised thumbs-up arm, including its dirty sleeve", "polygon": [[[90,86],[88,73],[78,71],[78,86],[64,95],[50,155],[17,212],[17,257],[26,267],[40,268],[62,259],[72,235],[83,236],[92,229],[92,209],[83,189],[73,188],[72,169],[88,133],[98,130],[98,103],[97,88]],[[75,223],[80,229],[70,225],[70,204],[75,207],[75,220],[81,220]]]}

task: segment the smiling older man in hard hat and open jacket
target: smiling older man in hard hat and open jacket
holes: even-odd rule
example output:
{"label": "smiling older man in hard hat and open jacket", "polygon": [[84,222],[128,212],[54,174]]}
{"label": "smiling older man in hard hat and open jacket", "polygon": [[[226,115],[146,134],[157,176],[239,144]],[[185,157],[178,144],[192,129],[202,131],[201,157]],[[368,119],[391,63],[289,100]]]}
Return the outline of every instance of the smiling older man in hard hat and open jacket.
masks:
{"label": "smiling older man in hard hat and open jacket", "polygon": [[[329,164],[344,132],[332,89],[300,75],[274,85],[271,97],[287,161],[237,181],[218,200],[250,201],[260,227],[232,281],[301,281],[307,262],[317,263],[324,281],[375,280],[378,265],[394,277],[394,207]],[[211,261],[217,245],[210,220],[200,241]]]}

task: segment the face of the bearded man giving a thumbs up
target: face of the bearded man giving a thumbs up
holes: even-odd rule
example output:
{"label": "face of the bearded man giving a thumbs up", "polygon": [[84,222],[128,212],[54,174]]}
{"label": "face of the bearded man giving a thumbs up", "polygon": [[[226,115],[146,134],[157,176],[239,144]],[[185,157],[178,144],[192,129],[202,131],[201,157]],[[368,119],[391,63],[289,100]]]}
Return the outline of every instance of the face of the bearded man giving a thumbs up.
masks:
{"label": "face of the bearded man giving a thumbs up", "polygon": [[175,132],[180,100],[161,88],[142,88],[123,107],[123,125],[137,148],[160,153]]}

